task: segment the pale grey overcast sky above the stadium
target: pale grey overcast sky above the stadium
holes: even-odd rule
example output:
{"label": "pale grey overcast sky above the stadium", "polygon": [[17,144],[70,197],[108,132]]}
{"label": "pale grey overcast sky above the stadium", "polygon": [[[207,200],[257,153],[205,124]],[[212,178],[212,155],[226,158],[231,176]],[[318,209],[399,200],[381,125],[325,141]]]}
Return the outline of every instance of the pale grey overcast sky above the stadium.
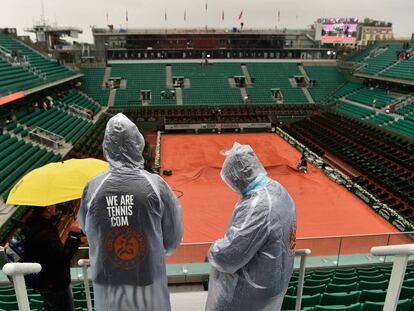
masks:
{"label": "pale grey overcast sky above the stadium", "polygon": [[[50,24],[77,26],[79,41],[92,42],[90,26],[104,27],[106,13],[115,27],[183,28],[238,26],[240,12],[247,28],[304,28],[318,17],[370,17],[390,21],[396,37],[414,32],[414,0],[43,0]],[[207,3],[207,12],[206,12]],[[186,10],[186,21],[184,21]],[[222,12],[224,10],[224,21]],[[280,23],[277,12],[280,10]],[[0,0],[0,28],[23,28],[40,20],[41,0]],[[165,21],[165,13],[167,21]]]}

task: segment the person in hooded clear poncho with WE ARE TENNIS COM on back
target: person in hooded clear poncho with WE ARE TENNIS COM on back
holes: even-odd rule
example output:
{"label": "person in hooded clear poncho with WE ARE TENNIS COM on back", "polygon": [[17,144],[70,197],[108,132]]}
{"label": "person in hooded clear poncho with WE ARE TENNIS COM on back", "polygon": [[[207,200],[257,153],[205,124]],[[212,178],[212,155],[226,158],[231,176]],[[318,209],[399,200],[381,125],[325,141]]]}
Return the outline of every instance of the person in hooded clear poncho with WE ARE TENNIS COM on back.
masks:
{"label": "person in hooded clear poncho with WE ARE TENNIS COM on back", "polygon": [[183,235],[167,183],[144,171],[144,138],[123,114],[108,121],[109,169],[86,186],[78,220],[89,241],[96,311],[170,310],[164,257]]}

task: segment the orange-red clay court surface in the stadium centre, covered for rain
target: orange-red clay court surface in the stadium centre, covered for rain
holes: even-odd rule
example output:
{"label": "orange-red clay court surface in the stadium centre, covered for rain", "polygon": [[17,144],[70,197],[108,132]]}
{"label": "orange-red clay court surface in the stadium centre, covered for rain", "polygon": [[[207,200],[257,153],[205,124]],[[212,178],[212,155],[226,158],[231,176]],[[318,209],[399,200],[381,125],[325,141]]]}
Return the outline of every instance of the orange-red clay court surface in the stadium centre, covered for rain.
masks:
{"label": "orange-red clay court surface in the stadium centre, covered for rain", "polygon": [[177,195],[183,193],[184,243],[223,236],[239,196],[222,181],[220,170],[235,141],[252,146],[268,174],[293,197],[298,238],[397,231],[316,167],[308,164],[307,174],[297,172],[300,153],[275,134],[168,134],[162,136],[161,169],[173,170],[163,177]]}

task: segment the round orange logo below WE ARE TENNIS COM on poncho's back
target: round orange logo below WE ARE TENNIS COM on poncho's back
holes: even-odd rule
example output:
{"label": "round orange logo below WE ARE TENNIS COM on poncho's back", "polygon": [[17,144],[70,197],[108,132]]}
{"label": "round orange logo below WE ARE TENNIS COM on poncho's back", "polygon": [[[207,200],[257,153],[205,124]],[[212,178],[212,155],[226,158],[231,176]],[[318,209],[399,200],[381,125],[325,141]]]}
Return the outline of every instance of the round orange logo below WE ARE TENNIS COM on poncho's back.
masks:
{"label": "round orange logo below WE ARE TENNIS COM on poncho's back", "polygon": [[122,269],[135,268],[147,253],[144,235],[125,227],[110,231],[106,250],[111,262]]}

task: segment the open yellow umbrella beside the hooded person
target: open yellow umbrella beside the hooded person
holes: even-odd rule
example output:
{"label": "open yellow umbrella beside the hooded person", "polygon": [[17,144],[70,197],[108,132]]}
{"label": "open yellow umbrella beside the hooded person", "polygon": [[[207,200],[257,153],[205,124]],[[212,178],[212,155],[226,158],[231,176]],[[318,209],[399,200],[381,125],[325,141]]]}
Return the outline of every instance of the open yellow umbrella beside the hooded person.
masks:
{"label": "open yellow umbrella beside the hooded person", "polygon": [[79,199],[87,182],[107,168],[107,162],[97,159],[49,163],[19,180],[7,204],[48,206]]}

